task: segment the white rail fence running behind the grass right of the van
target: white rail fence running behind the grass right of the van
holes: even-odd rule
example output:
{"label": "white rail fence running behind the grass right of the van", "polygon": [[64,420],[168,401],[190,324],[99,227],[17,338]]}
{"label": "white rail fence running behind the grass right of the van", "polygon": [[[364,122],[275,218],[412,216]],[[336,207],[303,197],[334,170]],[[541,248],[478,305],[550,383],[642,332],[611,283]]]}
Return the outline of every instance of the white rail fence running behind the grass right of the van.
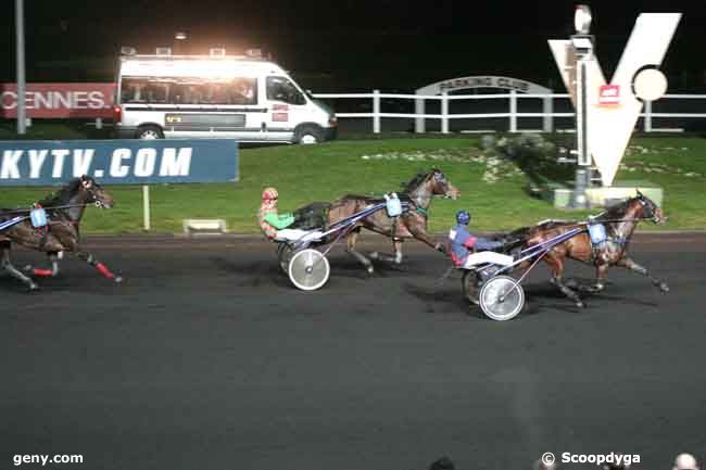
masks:
{"label": "white rail fence running behind the grass right of the van", "polygon": [[[438,94],[438,96],[419,96],[419,94],[400,94],[400,93],[381,93],[380,90],[373,90],[370,93],[316,93],[315,98],[326,100],[344,100],[344,99],[369,99],[370,112],[362,113],[336,113],[339,118],[371,118],[373,132],[379,134],[381,131],[382,118],[408,118],[415,120],[415,132],[426,131],[426,119],[439,119],[441,122],[441,132],[449,134],[449,123],[452,119],[507,119],[507,130],[509,132],[524,132],[524,131],[543,131],[552,132],[558,130],[556,128],[556,118],[573,118],[573,112],[555,112],[555,102],[563,100],[564,107],[571,107],[568,93],[553,93],[553,94],[529,94],[517,93],[510,91],[508,93],[496,94]],[[440,113],[387,113],[382,112],[382,100],[413,100],[416,104],[415,110],[423,106],[418,104],[423,101],[440,101]],[[501,113],[451,113],[449,104],[452,101],[480,101],[480,100],[507,100],[507,111]],[[522,100],[540,100],[542,112],[520,112],[519,102]],[[679,100],[706,100],[706,94],[666,94],[659,101],[652,103],[646,102],[644,112],[640,115],[642,117],[642,130],[645,132],[681,132],[684,129],[681,127],[655,127],[655,119],[671,118],[671,119],[704,119],[706,113],[663,113],[654,112],[655,106],[661,106],[663,103],[673,102]],[[389,102],[389,101],[388,101]],[[541,118],[541,129],[520,128],[518,119],[520,118]],[[706,125],[704,126],[706,127]],[[476,129],[479,130],[479,129]],[[572,131],[573,128],[563,129],[565,131]],[[472,130],[471,130],[472,131]]]}

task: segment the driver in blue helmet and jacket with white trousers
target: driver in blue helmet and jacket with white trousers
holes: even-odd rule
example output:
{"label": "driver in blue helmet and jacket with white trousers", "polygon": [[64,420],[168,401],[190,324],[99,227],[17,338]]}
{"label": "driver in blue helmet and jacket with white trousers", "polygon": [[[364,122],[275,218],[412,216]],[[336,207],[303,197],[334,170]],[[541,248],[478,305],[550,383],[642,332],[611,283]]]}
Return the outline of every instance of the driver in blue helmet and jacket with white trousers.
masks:
{"label": "driver in blue helmet and jacket with white trousers", "polygon": [[451,240],[451,258],[457,267],[471,268],[476,265],[492,263],[502,266],[513,264],[513,256],[495,253],[504,244],[499,241],[472,236],[468,231],[470,214],[467,211],[456,213],[456,225],[449,231]]}

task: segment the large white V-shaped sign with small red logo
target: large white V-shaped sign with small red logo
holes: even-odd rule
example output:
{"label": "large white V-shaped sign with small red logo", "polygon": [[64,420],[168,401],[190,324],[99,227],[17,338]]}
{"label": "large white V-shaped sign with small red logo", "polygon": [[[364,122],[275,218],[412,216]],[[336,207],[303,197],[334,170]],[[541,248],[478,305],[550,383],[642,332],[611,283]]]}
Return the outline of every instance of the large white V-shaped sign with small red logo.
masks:
{"label": "large white V-shaped sign with small red logo", "polygon": [[[618,102],[602,104],[600,89],[606,85],[597,59],[587,62],[588,149],[601,170],[604,186],[610,186],[635,127],[642,101],[633,92],[635,74],[645,67],[658,67],[681,20],[681,13],[642,13],[622,51],[610,85],[616,85]],[[569,40],[550,40],[564,85],[576,106],[576,51]]]}

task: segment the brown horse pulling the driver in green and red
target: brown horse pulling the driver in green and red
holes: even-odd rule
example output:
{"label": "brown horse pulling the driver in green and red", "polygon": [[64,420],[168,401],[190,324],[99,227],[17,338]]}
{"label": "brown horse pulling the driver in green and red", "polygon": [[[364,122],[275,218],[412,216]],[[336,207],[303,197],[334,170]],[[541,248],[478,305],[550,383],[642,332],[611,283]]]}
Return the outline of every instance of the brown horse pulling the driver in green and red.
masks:
{"label": "brown horse pulling the driver in green and red", "polygon": [[[389,217],[386,211],[378,211],[362,219],[346,234],[346,252],[360,261],[368,272],[374,271],[370,259],[382,259],[394,262],[395,264],[402,263],[402,242],[405,239],[417,239],[445,254],[447,252],[446,244],[438,242],[427,233],[429,206],[434,195],[455,200],[461,195],[461,192],[437,168],[417,174],[404,185],[400,193],[400,200],[408,205],[408,209],[394,218]],[[331,204],[328,211],[327,224],[331,226],[339,220],[343,220],[364,211],[373,204],[378,204],[383,201],[364,195],[346,194]],[[373,252],[368,254],[368,257],[356,251],[355,244],[361,233],[361,228],[366,228],[391,238],[394,255]]]}

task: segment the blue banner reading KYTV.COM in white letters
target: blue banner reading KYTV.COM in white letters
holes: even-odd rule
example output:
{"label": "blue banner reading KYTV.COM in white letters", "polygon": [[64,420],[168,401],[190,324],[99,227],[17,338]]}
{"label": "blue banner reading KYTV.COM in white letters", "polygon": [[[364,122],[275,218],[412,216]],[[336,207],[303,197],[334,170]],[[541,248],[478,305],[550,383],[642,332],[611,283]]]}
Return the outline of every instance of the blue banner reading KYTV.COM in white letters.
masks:
{"label": "blue banner reading KYTV.COM in white letters", "polygon": [[88,175],[103,185],[238,180],[229,139],[0,141],[1,186],[53,186]]}

